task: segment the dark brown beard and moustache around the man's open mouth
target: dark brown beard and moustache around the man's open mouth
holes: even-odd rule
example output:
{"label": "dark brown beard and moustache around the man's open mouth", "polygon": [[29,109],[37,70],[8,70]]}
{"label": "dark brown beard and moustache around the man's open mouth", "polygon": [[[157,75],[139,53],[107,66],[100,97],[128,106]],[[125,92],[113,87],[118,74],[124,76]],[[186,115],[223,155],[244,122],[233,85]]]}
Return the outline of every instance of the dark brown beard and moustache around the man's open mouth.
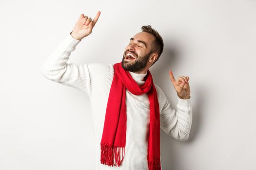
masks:
{"label": "dark brown beard and moustache around the man's open mouth", "polygon": [[[129,51],[129,50],[127,50],[127,51]],[[152,53],[151,51],[149,51],[149,53],[147,53],[144,56],[138,56],[134,52],[129,51],[129,52],[135,54],[136,56],[138,56],[138,58],[136,58],[135,61],[127,61],[127,60],[124,61],[125,54],[127,51],[124,51],[124,53],[123,53],[122,68],[127,71],[131,71],[131,72],[137,72],[137,71],[143,70],[146,67],[148,59]]]}

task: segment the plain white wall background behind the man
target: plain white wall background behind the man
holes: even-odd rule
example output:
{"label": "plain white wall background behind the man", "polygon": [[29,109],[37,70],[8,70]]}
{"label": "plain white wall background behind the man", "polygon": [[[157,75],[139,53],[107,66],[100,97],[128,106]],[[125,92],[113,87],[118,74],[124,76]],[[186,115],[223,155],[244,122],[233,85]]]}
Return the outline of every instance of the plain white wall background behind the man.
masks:
{"label": "plain white wall background behind the man", "polygon": [[150,71],[171,107],[169,70],[190,77],[190,137],[161,130],[162,169],[255,170],[255,0],[0,0],[0,170],[94,169],[90,101],[39,68],[80,14],[97,11],[68,63],[118,63],[152,25],[164,51]]}

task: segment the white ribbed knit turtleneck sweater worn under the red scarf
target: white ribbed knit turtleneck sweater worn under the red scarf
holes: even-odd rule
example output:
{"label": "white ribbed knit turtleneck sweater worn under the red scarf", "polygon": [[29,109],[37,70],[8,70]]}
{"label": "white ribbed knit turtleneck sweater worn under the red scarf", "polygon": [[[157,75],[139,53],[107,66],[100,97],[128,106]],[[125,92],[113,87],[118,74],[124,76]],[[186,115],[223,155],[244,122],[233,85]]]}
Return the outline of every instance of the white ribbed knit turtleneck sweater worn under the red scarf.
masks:
{"label": "white ribbed knit turtleneck sweater worn under the red scarf", "polygon": [[[127,129],[125,155],[120,167],[108,167],[100,163],[100,141],[103,132],[106,106],[114,76],[113,64],[88,63],[75,65],[67,61],[72,51],[79,44],[71,34],[59,44],[41,66],[44,77],[62,85],[80,89],[86,93],[91,102],[94,135],[96,170],[148,170],[147,147],[150,107],[147,94],[134,95],[126,90]],[[130,71],[129,71],[130,72]],[[138,83],[143,85],[146,74],[130,72]],[[187,140],[192,123],[191,98],[182,100],[177,97],[177,111],[163,91],[156,85],[160,109],[160,128],[169,136]]]}

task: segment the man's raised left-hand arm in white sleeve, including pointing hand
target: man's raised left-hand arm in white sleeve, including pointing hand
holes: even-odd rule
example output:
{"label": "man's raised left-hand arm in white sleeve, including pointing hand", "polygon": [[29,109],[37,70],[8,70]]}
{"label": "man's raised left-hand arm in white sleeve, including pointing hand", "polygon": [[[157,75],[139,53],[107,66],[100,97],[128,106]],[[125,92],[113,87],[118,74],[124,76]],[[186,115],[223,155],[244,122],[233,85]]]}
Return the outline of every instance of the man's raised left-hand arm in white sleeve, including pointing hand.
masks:
{"label": "man's raised left-hand arm in white sleeve, including pointing hand", "polygon": [[[83,14],[80,15],[73,31],[48,56],[41,66],[40,72],[44,77],[63,85],[81,89],[91,96],[91,86],[97,83],[97,81],[91,80],[91,74],[94,72],[97,74],[97,69],[104,70],[108,66],[100,64],[80,64],[77,66],[73,63],[68,64],[67,61],[81,39],[91,34],[99,14],[100,12],[97,13],[93,21],[91,21],[90,17],[88,18]],[[103,68],[100,68],[101,66]]]}

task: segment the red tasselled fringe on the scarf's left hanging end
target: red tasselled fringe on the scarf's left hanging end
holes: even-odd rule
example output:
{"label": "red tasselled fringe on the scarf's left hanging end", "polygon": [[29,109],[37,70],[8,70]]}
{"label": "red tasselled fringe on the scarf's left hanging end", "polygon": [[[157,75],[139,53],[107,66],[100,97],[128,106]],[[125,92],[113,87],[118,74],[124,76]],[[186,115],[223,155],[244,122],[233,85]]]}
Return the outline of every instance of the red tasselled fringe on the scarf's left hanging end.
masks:
{"label": "red tasselled fringe on the scarf's left hanging end", "polygon": [[[122,152],[122,158],[120,160],[120,153]],[[114,160],[115,158],[115,160]],[[124,147],[110,146],[106,143],[100,144],[100,162],[108,166],[119,167],[124,158]]]}

